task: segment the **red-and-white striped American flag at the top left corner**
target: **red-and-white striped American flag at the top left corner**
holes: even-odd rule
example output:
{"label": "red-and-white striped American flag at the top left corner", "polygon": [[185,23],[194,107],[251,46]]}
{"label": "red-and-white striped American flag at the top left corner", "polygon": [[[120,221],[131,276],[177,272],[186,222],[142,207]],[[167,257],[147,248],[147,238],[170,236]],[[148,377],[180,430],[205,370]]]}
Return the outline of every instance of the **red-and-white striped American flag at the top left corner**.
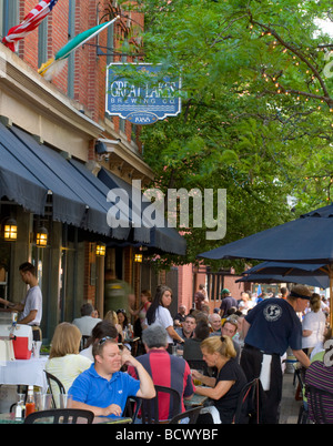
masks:
{"label": "red-and-white striped American flag at the top left corner", "polygon": [[40,22],[52,11],[52,8],[58,0],[43,0],[40,1],[23,19],[23,21],[12,27],[8,34],[2,39],[11,51],[16,51],[19,40],[24,39],[27,34],[33,31]]}

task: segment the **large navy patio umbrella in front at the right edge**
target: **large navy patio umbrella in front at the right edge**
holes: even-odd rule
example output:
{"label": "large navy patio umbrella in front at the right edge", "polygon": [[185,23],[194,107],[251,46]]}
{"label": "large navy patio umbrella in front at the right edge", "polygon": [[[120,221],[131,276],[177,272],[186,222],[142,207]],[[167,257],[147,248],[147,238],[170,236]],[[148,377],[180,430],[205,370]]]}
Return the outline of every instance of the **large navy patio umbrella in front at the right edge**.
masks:
{"label": "large navy patio umbrella in front at the right edge", "polygon": [[[325,264],[333,304],[333,205],[299,219],[222,245],[198,255],[203,259],[256,259],[265,261]],[[333,322],[331,311],[331,324]]]}

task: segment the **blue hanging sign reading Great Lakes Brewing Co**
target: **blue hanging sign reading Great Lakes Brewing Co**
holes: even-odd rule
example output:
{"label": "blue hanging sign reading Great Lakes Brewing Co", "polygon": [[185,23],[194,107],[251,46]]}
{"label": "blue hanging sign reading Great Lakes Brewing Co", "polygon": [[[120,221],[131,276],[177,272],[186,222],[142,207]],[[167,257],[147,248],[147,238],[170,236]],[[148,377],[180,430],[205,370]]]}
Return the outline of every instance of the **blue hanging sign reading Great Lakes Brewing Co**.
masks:
{"label": "blue hanging sign reading Great Lakes Brewing Co", "polygon": [[[138,87],[130,77],[120,77],[114,70],[120,65],[135,67],[144,73],[145,81]],[[152,124],[167,116],[178,115],[181,111],[181,81],[168,75],[157,80],[159,71],[160,65],[149,63],[110,63],[107,68],[107,113],[137,125]]]}

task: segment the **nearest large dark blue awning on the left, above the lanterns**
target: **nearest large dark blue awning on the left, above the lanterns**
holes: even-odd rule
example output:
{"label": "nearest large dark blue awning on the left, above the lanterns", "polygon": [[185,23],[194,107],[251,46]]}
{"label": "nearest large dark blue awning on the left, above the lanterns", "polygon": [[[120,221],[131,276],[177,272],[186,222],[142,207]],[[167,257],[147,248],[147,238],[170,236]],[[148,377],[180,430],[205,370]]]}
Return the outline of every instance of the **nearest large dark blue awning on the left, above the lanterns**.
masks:
{"label": "nearest large dark blue awning on the left, above the lanterns", "polygon": [[52,194],[52,219],[108,237],[127,240],[131,227],[111,229],[107,186],[82,163],[39,144],[29,133],[0,124],[0,194],[43,215]]}

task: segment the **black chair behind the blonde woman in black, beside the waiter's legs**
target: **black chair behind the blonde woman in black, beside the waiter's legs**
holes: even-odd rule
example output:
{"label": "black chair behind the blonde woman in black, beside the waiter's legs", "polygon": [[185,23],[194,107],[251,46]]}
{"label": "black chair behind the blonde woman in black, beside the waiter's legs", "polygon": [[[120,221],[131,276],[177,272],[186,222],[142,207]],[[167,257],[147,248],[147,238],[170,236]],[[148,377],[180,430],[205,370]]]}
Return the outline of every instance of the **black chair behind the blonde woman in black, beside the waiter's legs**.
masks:
{"label": "black chair behind the blonde woman in black, beside the waiter's legs", "polygon": [[260,423],[260,386],[259,378],[244,385],[239,395],[233,424],[249,424],[250,418],[253,424]]}

